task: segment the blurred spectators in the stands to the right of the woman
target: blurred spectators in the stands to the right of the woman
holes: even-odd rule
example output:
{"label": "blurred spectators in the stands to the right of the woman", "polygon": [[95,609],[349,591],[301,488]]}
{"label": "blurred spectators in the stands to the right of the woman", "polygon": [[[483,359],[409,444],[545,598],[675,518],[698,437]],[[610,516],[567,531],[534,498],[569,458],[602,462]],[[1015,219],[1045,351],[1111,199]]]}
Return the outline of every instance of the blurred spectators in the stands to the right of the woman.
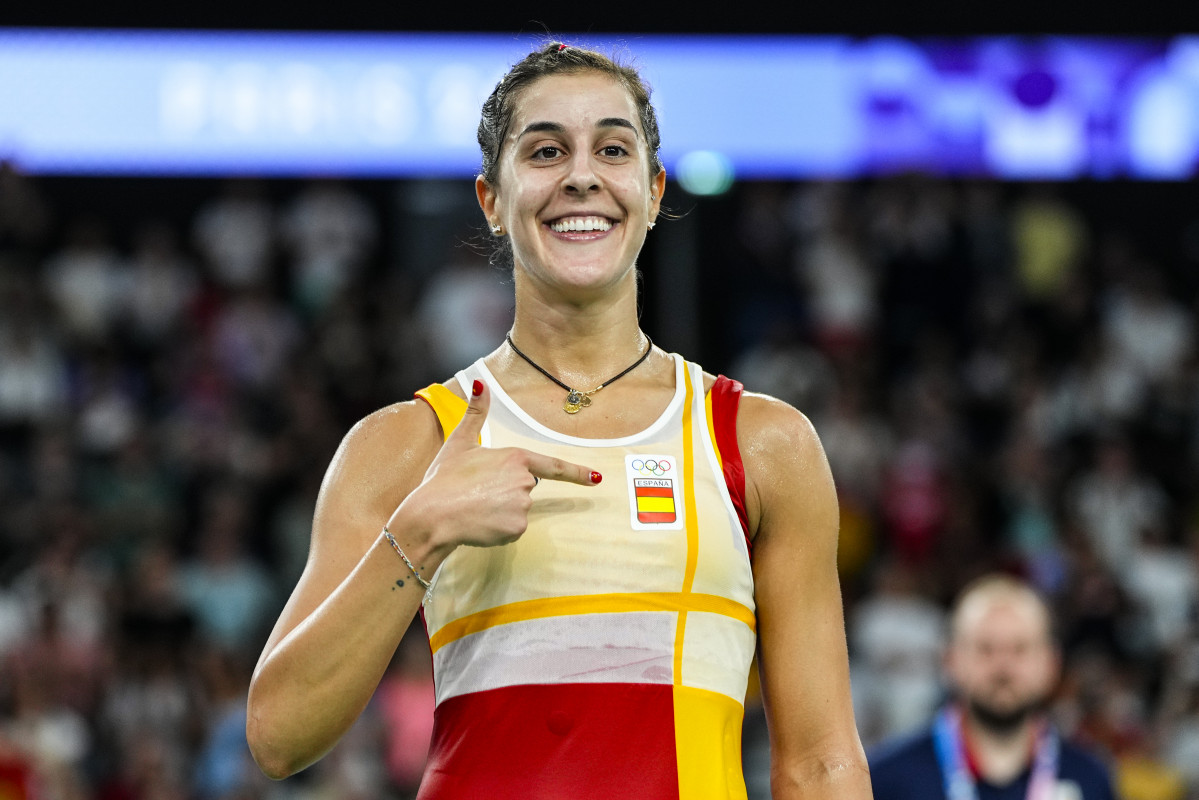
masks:
{"label": "blurred spectators in the stands to the right of the woman", "polygon": [[946,606],[1002,570],[1055,607],[1064,730],[1126,800],[1199,796],[1199,218],[1170,199],[921,178],[737,198],[729,371],[821,434],[867,745],[929,721]]}

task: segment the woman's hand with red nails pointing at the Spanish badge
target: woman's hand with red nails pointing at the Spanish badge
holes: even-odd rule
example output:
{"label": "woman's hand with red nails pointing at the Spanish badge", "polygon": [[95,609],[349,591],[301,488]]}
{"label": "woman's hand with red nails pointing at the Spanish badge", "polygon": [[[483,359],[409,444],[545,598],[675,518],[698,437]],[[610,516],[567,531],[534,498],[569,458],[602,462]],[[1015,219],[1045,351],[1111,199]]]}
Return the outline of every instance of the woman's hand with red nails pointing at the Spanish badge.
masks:
{"label": "woman's hand with red nails pointing at the Spanish badge", "polygon": [[466,414],[446,438],[424,479],[392,513],[387,527],[409,541],[427,542],[445,554],[459,545],[494,547],[514,542],[529,527],[531,492],[538,480],[595,486],[602,479],[588,467],[522,447],[483,447],[490,392],[472,386]]}

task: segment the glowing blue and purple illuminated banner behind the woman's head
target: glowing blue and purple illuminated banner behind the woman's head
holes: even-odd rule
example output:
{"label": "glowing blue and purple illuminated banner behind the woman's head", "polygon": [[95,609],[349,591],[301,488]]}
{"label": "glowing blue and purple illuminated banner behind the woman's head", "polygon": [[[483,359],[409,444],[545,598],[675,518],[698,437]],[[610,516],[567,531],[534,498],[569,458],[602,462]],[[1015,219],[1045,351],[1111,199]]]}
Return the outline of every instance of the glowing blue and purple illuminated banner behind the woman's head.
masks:
{"label": "glowing blue and purple illuminated banner behind the woman's head", "polygon": [[[641,70],[671,173],[1183,179],[1199,166],[1199,37],[564,38]],[[34,173],[470,175],[480,107],[535,44],[0,29],[0,158]]]}

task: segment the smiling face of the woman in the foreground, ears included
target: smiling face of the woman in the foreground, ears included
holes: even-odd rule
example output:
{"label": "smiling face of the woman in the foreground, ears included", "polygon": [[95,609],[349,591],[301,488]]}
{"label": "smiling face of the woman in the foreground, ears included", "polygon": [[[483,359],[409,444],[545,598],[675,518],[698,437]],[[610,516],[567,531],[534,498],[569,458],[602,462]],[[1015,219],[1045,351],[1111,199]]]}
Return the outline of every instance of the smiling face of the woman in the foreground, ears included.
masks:
{"label": "smiling face of the woman in the foreground, ears included", "polygon": [[518,97],[499,185],[476,190],[530,279],[576,295],[629,275],[665,186],[665,173],[649,174],[638,119],[628,91],[598,72],[540,78]]}

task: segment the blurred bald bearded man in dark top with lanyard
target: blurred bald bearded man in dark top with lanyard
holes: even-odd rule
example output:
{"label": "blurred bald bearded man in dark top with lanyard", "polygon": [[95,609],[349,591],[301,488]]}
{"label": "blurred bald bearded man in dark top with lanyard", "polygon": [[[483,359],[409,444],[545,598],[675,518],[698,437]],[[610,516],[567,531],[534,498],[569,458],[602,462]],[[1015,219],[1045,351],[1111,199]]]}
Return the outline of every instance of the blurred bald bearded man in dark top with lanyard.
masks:
{"label": "blurred bald bearded man in dark top with lanyard", "polygon": [[872,753],[875,800],[1113,800],[1107,768],[1048,718],[1060,668],[1036,591],[1007,576],[971,583],[951,618],[953,699],[930,729]]}

